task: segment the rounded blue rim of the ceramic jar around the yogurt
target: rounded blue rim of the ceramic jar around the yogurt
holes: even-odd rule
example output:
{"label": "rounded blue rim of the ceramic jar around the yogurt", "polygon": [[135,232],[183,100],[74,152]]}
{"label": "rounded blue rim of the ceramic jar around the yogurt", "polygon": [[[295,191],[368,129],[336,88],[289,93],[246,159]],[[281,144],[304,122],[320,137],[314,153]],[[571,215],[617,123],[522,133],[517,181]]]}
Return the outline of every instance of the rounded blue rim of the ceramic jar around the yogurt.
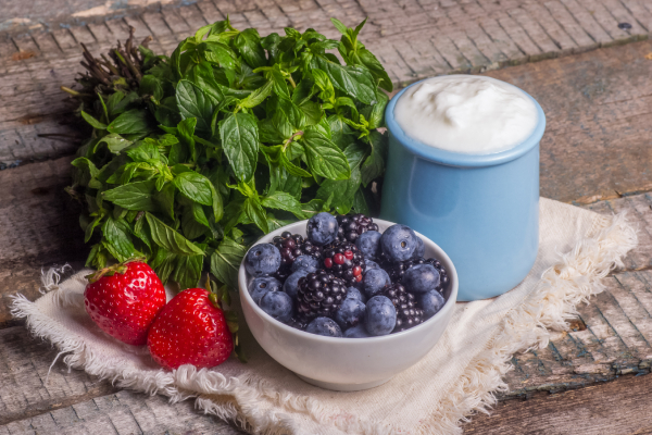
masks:
{"label": "rounded blue rim of the ceramic jar around the yogurt", "polygon": [[518,89],[523,92],[530,101],[535,103],[535,108],[537,110],[537,125],[535,129],[530,133],[528,137],[523,139],[523,141],[515,147],[510,149],[498,151],[498,152],[489,152],[485,154],[473,154],[473,153],[462,153],[449,151],[440,148],[430,147],[429,145],[423,144],[421,140],[417,140],[411,136],[409,136],[403,128],[399,125],[394,117],[394,108],[397,102],[401,98],[401,96],[411,87],[418,86],[425,80],[437,79],[437,78],[449,78],[454,76],[472,76],[469,74],[452,74],[452,75],[443,75],[424,78],[422,80],[415,82],[412,85],[401,89],[397,95],[394,95],[387,108],[385,109],[385,123],[387,124],[387,129],[389,134],[396,137],[401,145],[403,145],[408,150],[410,150],[415,156],[418,156],[422,159],[426,159],[428,161],[440,163],[449,166],[459,166],[459,167],[485,167],[485,166],[494,166],[498,164],[503,164],[515,160],[527,152],[529,152],[532,148],[539,144],[541,137],[543,137],[543,132],[546,130],[546,114],[543,113],[543,109],[537,100],[532,98],[525,90],[521,89],[517,86],[512,85],[511,83],[499,80],[489,76],[479,76],[484,78],[489,78],[491,80],[497,80],[504,83],[511,87]]}

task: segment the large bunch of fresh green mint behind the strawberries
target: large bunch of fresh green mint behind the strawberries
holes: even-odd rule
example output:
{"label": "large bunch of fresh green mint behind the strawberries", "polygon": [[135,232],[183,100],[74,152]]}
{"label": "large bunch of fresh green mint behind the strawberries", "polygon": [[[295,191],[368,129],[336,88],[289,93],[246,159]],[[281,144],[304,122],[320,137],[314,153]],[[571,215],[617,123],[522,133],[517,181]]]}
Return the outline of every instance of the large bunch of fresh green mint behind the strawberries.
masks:
{"label": "large bunch of fresh green mint behind the strawberries", "polygon": [[[88,266],[147,258],[163,282],[198,284],[204,264],[237,287],[248,245],[322,211],[377,209],[392,84],[347,28],[261,38],[228,21],[167,58],[124,46],[65,88],[92,127],[68,192],[93,243]],[[344,63],[329,50],[337,49]]]}

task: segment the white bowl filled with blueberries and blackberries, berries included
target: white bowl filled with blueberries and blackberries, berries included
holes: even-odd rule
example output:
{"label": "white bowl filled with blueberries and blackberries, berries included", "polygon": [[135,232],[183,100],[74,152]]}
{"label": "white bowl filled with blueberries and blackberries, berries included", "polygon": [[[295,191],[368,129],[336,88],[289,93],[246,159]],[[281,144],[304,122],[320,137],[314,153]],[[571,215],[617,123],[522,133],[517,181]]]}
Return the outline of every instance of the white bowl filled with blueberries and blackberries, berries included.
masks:
{"label": "white bowl filled with blueberries and blackberries, berries included", "polygon": [[437,344],[457,274],[439,246],[391,222],[318,213],[267,234],[240,264],[247,324],[303,381],[352,391],[381,385]]}

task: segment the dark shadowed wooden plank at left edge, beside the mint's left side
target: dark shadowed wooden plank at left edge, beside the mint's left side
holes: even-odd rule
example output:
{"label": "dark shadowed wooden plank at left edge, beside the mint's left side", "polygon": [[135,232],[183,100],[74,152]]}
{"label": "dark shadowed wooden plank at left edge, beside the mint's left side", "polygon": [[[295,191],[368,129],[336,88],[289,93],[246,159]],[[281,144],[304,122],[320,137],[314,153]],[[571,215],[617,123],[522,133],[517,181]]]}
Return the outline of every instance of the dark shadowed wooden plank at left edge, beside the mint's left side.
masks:
{"label": "dark shadowed wooden plank at left edge, beside the mint's left side", "polygon": [[0,325],[9,296],[38,296],[40,268],[79,262],[87,253],[79,204],[63,190],[71,158],[0,172]]}

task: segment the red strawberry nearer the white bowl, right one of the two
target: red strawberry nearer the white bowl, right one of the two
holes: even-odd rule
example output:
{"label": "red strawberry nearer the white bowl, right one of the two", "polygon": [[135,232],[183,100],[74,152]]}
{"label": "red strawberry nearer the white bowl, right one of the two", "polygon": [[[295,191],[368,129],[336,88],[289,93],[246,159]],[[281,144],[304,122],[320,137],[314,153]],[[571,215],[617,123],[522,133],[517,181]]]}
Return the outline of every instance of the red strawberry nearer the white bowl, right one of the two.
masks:
{"label": "red strawberry nearer the white bowl, right one of the two", "polygon": [[154,360],[165,369],[183,364],[212,368],[234,349],[224,312],[215,308],[203,288],[175,296],[161,311],[147,337]]}

